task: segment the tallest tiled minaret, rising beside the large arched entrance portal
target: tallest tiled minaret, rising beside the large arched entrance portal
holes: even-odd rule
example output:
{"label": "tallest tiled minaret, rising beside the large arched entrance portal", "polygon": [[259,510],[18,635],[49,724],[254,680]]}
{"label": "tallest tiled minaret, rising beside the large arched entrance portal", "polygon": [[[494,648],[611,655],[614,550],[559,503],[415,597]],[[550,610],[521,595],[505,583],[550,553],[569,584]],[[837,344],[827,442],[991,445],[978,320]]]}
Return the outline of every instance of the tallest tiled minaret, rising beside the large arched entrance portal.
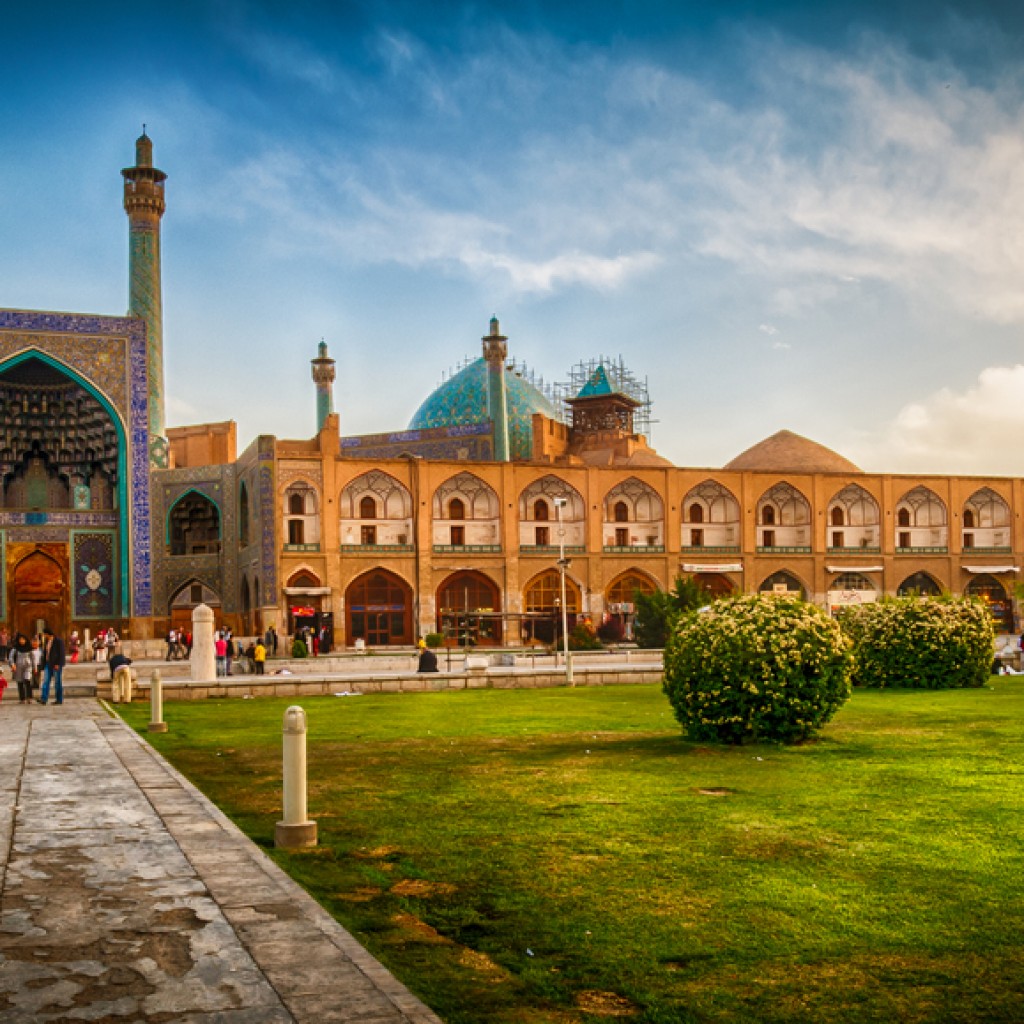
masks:
{"label": "tallest tiled minaret, rising beside the large arched entrance portal", "polygon": [[135,141],[135,166],[122,172],[128,214],[128,315],[145,321],[150,373],[150,464],[167,465],[164,436],[164,316],[160,287],[160,218],[164,215],[164,179],[153,166],[153,142]]}

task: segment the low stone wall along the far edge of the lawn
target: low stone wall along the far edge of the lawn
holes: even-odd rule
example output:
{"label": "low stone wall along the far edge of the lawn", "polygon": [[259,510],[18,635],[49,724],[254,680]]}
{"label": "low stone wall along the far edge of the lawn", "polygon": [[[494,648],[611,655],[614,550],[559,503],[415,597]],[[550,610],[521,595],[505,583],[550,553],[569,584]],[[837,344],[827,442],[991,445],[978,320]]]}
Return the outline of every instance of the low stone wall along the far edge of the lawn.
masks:
{"label": "low stone wall along the far edge of the lawn", "polygon": [[[572,672],[577,686],[617,686],[659,683],[662,666],[615,665],[579,668]],[[205,700],[220,697],[331,696],[335,693],[422,693],[435,690],[543,689],[565,685],[564,669],[488,668],[469,672],[360,672],[344,676],[229,676],[199,680],[162,680],[164,700]],[[100,682],[98,695],[111,697],[110,682]],[[138,673],[135,701],[150,699],[150,677]]]}

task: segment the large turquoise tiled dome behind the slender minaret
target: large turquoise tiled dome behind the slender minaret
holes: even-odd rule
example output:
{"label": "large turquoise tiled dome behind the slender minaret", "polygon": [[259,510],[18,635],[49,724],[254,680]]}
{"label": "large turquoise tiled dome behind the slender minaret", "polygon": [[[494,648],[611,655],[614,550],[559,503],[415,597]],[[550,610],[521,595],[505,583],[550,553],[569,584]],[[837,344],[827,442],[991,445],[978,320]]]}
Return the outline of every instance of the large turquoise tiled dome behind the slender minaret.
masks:
{"label": "large turquoise tiled dome behind the slender minaret", "polygon": [[[534,414],[557,418],[554,404],[525,378],[505,368],[508,402],[509,454],[513,459],[529,459],[534,453]],[[435,388],[416,411],[410,430],[430,427],[459,427],[488,420],[487,362],[482,356],[464,367]]]}

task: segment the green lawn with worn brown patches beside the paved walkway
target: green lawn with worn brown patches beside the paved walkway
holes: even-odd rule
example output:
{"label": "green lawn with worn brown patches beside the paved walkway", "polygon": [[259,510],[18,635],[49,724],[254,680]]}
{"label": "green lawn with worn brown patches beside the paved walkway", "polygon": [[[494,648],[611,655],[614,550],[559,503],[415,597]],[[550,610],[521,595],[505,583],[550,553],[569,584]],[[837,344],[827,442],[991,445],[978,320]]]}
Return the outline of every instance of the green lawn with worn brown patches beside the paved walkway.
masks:
{"label": "green lawn with worn brown patches beside the paved walkway", "polygon": [[[451,1024],[1024,1020],[1024,680],[683,740],[659,688],[166,706],[147,738]],[[147,708],[124,711],[144,729]]]}

